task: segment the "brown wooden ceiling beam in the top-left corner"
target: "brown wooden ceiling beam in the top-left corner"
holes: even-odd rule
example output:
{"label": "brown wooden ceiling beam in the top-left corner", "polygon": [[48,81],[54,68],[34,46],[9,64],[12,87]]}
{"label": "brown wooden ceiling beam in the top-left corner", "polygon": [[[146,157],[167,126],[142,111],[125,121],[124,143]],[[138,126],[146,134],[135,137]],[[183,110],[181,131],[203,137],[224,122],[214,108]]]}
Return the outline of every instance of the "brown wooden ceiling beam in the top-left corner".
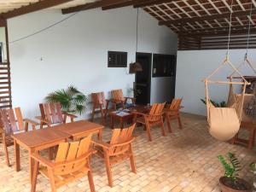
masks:
{"label": "brown wooden ceiling beam in the top-left corner", "polygon": [[19,9],[14,9],[11,10],[7,13],[3,13],[0,15],[0,18],[2,19],[9,19],[9,18],[13,18],[15,16],[19,16],[19,15],[25,15],[28,13],[32,13],[34,11],[38,11],[41,9],[47,9],[50,7],[54,7],[56,5],[62,4],[62,3],[67,3],[67,2],[71,2],[72,0],[44,0],[44,1],[39,1],[38,3],[31,3],[29,5],[23,6]]}

